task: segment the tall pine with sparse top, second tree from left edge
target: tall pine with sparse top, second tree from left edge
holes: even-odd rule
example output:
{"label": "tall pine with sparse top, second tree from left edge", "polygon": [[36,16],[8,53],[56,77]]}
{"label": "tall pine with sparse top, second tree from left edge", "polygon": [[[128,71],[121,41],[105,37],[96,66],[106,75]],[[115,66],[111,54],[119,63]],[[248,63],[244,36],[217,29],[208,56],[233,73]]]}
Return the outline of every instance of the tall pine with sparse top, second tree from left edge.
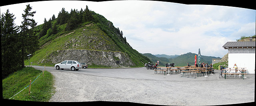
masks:
{"label": "tall pine with sparse top, second tree from left edge", "polygon": [[[23,60],[27,58],[27,54],[33,54],[38,48],[38,37],[33,34],[33,28],[36,26],[36,22],[33,18],[34,12],[30,12],[32,7],[30,4],[26,5],[26,9],[24,10],[24,14],[22,14],[23,21],[21,22],[22,25],[20,26],[20,37],[19,41],[21,44],[21,57]],[[24,61],[22,62],[22,67],[24,67]]]}

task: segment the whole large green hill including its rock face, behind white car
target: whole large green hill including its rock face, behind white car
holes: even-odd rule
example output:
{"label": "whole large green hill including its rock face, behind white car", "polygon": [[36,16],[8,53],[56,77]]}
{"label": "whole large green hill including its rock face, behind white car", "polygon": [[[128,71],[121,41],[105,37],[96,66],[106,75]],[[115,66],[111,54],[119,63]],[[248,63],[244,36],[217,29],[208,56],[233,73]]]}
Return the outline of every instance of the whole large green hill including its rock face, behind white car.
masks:
{"label": "whole large green hill including its rock face, behind white car", "polygon": [[[82,13],[76,14],[79,16]],[[30,62],[34,65],[54,66],[63,60],[78,60],[88,65],[137,67],[144,66],[144,63],[150,61],[132,49],[123,37],[122,31],[115,28],[112,22],[93,11],[90,11],[90,14],[93,17],[91,20],[77,23],[72,28],[68,21],[58,23],[60,15],[54,20],[49,20],[52,27],[40,38],[40,49],[32,55]],[[72,14],[68,15],[72,20]],[[34,29],[38,37],[46,24],[47,22]],[[55,34],[52,33],[54,29]],[[120,61],[120,64],[116,64],[116,61]]]}

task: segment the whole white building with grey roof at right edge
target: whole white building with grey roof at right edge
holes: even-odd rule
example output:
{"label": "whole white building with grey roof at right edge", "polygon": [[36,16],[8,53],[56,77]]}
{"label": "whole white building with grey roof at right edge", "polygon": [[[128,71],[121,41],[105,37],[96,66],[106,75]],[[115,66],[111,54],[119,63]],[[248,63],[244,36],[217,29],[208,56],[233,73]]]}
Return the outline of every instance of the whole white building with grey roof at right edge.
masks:
{"label": "whole white building with grey roof at right edge", "polygon": [[245,68],[248,74],[255,74],[255,44],[256,42],[227,42],[222,46],[228,49],[228,68],[234,64]]}

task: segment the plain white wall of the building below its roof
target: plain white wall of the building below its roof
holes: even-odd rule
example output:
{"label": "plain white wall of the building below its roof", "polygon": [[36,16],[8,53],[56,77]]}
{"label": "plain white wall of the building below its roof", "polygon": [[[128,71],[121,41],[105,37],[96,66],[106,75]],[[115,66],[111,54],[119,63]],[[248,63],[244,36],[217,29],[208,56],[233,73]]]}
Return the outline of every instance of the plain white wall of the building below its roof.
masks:
{"label": "plain white wall of the building below its roof", "polygon": [[233,68],[234,64],[238,68],[245,68],[247,74],[255,74],[255,49],[254,53],[229,53],[228,67]]}

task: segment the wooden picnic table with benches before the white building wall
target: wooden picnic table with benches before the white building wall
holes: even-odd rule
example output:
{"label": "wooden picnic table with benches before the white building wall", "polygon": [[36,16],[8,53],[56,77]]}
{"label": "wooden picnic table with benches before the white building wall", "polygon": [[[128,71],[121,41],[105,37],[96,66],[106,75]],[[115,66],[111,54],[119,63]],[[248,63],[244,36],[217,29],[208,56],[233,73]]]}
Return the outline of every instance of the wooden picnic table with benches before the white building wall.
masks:
{"label": "wooden picnic table with benches before the white building wall", "polygon": [[[222,74],[224,74],[225,79],[226,79],[226,75],[232,75],[232,74],[235,75],[234,77],[236,77],[236,75],[241,74],[242,79],[244,79],[244,75],[246,75],[246,71],[247,71],[247,70],[244,70],[244,68],[241,68],[241,69],[232,69],[232,68],[230,68],[230,69],[222,69],[222,70],[224,70],[224,73],[222,73]],[[237,73],[230,73],[231,70],[235,70],[235,72],[237,72]],[[240,73],[238,73],[238,71],[240,71]],[[228,73],[226,73],[226,72],[228,72]],[[239,76],[239,78],[240,78],[240,76]]]}

